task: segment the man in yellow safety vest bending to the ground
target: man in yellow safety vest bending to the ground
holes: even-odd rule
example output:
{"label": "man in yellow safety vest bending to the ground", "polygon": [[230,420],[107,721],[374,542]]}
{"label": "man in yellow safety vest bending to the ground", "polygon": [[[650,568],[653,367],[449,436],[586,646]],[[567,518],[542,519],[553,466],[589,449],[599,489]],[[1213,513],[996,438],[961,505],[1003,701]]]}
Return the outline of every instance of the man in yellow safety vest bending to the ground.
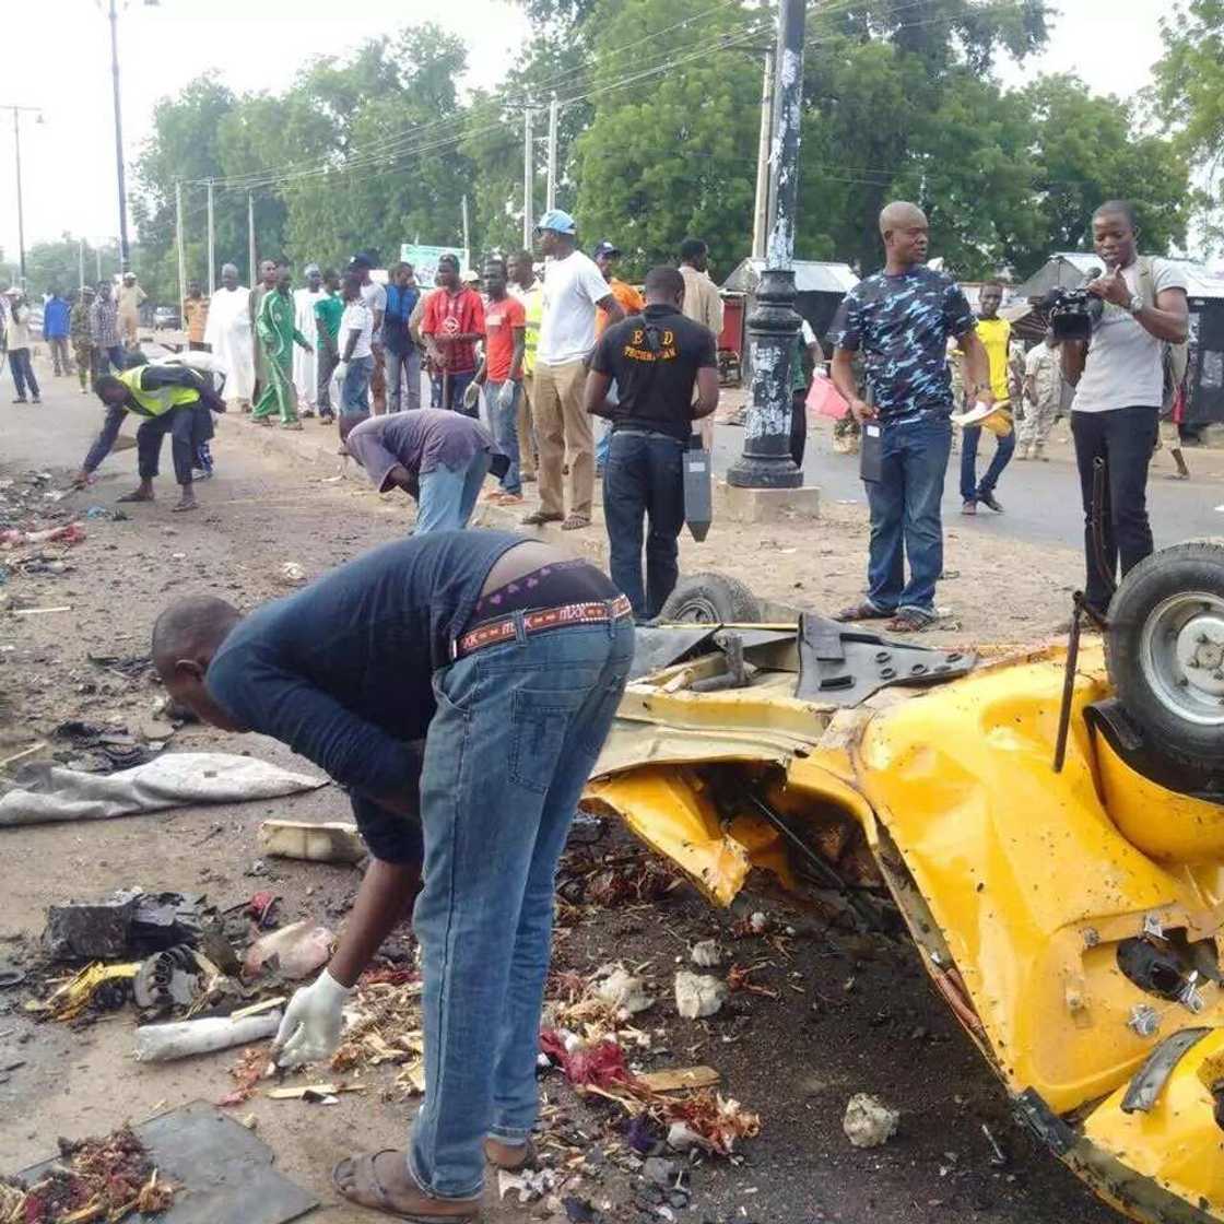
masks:
{"label": "man in yellow safety vest bending to the ground", "polygon": [[73,483],[83,487],[89,482],[93,471],[110,454],[124,424],[124,415],[131,412],[141,417],[141,426],[136,431],[141,482],[119,501],[153,501],[153,477],[158,471],[162,439],[169,433],[174,479],[182,490],[174,509],[193,510],[196,494],[191,483],[192,459],[197,448],[213,436],[209,410],[225,411],[225,401],[213,390],[207,376],[187,366],[137,366],[121,373],[99,376],[97,392],[106,405],[106,419],[81,470],[73,477]]}

